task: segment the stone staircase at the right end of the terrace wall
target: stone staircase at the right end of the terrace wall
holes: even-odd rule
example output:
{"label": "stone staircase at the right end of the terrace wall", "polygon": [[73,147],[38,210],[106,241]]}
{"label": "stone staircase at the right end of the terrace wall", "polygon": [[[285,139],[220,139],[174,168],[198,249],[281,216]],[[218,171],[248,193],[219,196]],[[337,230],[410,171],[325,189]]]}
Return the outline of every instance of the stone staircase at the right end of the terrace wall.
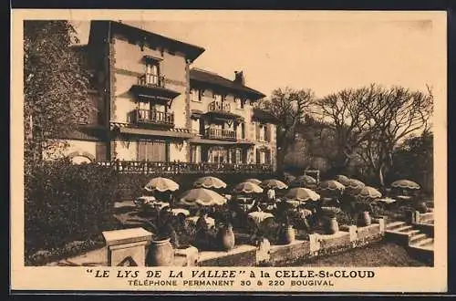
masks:
{"label": "stone staircase at the right end of the terrace wall", "polygon": [[433,234],[423,231],[419,225],[400,221],[387,223],[385,237],[407,247],[409,254],[414,255],[418,260],[433,263]]}

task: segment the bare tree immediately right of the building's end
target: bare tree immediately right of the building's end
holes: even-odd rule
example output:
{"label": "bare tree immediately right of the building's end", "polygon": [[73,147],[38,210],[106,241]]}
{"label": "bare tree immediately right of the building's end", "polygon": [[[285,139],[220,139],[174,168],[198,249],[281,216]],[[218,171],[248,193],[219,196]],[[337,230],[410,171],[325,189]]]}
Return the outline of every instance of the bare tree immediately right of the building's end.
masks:
{"label": "bare tree immediately right of the building's end", "polygon": [[270,99],[260,104],[269,111],[277,124],[277,173],[284,173],[285,154],[296,140],[296,128],[311,113],[315,94],[311,89],[276,88]]}

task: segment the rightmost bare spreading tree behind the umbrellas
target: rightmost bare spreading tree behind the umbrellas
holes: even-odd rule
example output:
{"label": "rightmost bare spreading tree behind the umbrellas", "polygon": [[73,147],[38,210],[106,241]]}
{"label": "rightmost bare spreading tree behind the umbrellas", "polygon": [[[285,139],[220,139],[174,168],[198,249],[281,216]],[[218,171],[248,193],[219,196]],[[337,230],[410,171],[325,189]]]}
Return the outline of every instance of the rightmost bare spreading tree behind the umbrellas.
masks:
{"label": "rightmost bare spreading tree behind the umbrellas", "polygon": [[372,97],[362,105],[368,120],[368,136],[359,154],[382,187],[399,143],[410,135],[429,130],[432,105],[430,88],[425,93],[402,87],[374,87]]}

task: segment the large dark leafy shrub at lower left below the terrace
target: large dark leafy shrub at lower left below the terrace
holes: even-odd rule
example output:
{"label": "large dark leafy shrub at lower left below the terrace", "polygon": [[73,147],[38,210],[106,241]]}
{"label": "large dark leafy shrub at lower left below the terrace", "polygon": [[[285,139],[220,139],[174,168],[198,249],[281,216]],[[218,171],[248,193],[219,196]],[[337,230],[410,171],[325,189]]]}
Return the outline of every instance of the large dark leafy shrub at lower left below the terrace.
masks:
{"label": "large dark leafy shrub at lower left below the terrace", "polygon": [[25,179],[26,254],[110,230],[117,187],[116,174],[96,164],[35,166]]}

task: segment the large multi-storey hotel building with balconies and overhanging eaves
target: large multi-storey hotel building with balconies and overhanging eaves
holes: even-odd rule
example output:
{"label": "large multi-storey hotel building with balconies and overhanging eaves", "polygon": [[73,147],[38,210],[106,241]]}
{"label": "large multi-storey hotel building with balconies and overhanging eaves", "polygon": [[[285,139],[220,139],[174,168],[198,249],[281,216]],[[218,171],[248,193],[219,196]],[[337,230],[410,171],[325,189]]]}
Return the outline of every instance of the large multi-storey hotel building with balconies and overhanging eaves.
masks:
{"label": "large multi-storey hotel building with balconies and overhanging eaves", "polygon": [[232,80],[192,67],[202,47],[114,21],[92,21],[80,50],[98,110],[67,140],[75,161],[275,170],[275,119],[254,109],[264,94],[245,85],[243,71]]}

